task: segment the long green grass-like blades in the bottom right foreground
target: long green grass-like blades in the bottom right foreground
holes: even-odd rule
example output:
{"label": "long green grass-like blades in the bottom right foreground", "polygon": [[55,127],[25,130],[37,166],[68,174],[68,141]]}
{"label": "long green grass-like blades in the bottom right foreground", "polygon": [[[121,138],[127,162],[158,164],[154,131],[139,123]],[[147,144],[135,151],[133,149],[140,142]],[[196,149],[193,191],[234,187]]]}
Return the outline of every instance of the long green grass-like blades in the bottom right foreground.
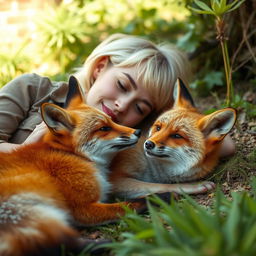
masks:
{"label": "long green grass-like blades in the bottom right foreground", "polygon": [[[115,255],[250,256],[256,253],[256,179],[252,194],[234,192],[232,200],[218,189],[211,208],[189,196],[167,204],[149,203],[150,219],[129,212],[128,232],[110,247]],[[158,204],[160,209],[153,207]]]}

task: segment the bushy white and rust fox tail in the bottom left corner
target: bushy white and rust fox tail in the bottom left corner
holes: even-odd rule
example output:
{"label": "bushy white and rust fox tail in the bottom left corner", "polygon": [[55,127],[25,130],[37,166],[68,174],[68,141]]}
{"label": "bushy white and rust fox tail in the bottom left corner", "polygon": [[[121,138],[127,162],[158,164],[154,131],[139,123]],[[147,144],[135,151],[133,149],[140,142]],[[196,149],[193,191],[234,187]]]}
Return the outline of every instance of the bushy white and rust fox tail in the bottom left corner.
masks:
{"label": "bushy white and rust fox tail in the bottom left corner", "polygon": [[63,248],[79,251],[78,233],[69,221],[68,213],[51,199],[33,193],[2,198],[0,255],[63,255]]}

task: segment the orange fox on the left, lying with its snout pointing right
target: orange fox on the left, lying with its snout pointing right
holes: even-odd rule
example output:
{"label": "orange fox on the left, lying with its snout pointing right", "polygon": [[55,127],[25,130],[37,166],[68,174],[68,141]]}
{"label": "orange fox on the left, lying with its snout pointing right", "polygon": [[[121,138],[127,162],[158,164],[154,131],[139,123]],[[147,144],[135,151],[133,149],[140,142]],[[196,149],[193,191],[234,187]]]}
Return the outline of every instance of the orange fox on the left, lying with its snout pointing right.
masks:
{"label": "orange fox on the left, lying with its snout pointing right", "polygon": [[145,206],[143,200],[103,203],[109,162],[137,143],[139,130],[84,104],[44,103],[41,113],[49,128],[42,141],[0,153],[0,255],[52,255],[47,250],[61,243],[79,246],[71,222],[105,223],[123,215],[124,205]]}

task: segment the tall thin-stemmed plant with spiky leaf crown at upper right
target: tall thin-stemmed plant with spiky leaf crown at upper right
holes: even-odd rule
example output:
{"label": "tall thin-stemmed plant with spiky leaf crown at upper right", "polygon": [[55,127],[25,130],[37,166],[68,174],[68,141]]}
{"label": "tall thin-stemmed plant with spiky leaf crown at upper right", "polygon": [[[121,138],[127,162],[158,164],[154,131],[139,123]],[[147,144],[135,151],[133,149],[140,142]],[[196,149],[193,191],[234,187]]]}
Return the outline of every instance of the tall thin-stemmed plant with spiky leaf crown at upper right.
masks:
{"label": "tall thin-stemmed plant with spiky leaf crown at upper right", "polygon": [[194,3],[199,9],[190,7],[190,9],[199,14],[213,15],[216,19],[217,39],[220,42],[222,49],[222,56],[224,61],[225,76],[227,82],[227,98],[226,104],[230,106],[232,103],[233,84],[232,84],[232,72],[230,67],[230,58],[227,47],[227,40],[225,34],[226,23],[223,19],[224,14],[237,9],[245,0],[235,0],[228,4],[226,0],[211,0],[210,6],[202,1],[194,0]]}

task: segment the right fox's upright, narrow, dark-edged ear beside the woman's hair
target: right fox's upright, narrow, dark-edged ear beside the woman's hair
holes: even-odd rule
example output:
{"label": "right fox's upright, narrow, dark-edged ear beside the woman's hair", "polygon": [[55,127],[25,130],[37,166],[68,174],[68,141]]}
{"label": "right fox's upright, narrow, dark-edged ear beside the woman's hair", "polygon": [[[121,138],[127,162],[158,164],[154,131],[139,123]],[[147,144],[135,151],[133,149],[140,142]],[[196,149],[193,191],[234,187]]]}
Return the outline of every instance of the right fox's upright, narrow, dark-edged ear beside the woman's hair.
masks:
{"label": "right fox's upright, narrow, dark-edged ear beside the woman's hair", "polygon": [[194,100],[183,81],[178,78],[173,88],[173,107],[195,107]]}

